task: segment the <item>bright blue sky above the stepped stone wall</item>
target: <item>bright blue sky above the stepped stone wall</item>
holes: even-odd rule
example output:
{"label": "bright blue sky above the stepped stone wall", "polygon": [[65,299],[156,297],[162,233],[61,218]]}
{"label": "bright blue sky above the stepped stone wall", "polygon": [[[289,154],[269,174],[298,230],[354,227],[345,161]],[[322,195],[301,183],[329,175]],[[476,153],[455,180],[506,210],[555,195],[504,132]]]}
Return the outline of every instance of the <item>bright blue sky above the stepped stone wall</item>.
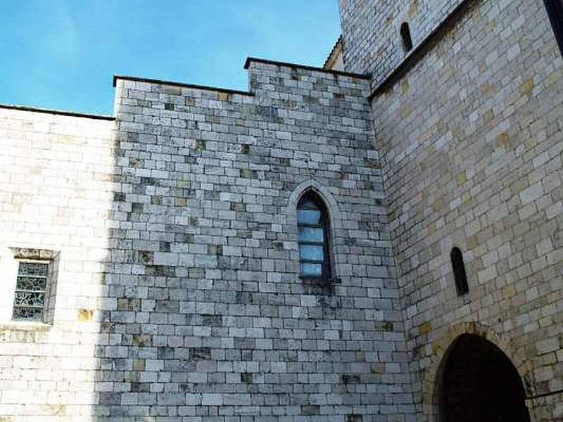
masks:
{"label": "bright blue sky above the stepped stone wall", "polygon": [[247,56],[322,66],[337,0],[0,0],[0,103],[113,114],[114,74],[246,90]]}

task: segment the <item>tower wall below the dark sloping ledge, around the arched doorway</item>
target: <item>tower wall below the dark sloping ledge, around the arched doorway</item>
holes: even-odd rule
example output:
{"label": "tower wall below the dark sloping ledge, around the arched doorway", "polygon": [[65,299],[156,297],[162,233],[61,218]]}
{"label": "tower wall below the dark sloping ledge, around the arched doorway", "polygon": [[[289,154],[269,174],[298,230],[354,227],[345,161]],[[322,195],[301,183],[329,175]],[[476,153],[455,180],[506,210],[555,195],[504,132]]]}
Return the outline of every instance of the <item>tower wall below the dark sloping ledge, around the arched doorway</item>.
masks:
{"label": "tower wall below the dark sloping ledge, around the arched doorway", "polygon": [[[474,1],[374,97],[424,421],[445,350],[464,332],[517,366],[533,421],[563,417],[562,68],[542,1]],[[453,246],[469,281],[461,297]]]}

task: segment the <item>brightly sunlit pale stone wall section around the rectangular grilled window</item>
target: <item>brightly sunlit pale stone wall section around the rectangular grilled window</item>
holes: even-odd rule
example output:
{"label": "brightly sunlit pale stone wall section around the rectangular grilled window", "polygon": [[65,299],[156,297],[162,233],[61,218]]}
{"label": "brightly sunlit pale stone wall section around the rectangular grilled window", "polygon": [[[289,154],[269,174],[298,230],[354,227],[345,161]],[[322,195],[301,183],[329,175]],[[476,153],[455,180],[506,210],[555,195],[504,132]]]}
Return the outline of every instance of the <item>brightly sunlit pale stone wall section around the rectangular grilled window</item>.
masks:
{"label": "brightly sunlit pale stone wall section around the rectangular grilled window", "polygon": [[[0,421],[87,421],[96,402],[113,127],[0,108]],[[22,254],[53,260],[49,324],[11,321]]]}

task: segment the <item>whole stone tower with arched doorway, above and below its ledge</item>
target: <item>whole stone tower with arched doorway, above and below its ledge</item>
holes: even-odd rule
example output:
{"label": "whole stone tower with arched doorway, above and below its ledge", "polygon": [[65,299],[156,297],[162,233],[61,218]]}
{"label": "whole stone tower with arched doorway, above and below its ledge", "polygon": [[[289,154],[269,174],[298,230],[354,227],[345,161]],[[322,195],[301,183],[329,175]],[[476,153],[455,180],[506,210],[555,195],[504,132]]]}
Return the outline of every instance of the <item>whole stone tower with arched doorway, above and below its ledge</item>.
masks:
{"label": "whole stone tower with arched doorway, above and below its ledge", "polygon": [[372,75],[417,420],[563,418],[556,3],[340,1],[346,70]]}

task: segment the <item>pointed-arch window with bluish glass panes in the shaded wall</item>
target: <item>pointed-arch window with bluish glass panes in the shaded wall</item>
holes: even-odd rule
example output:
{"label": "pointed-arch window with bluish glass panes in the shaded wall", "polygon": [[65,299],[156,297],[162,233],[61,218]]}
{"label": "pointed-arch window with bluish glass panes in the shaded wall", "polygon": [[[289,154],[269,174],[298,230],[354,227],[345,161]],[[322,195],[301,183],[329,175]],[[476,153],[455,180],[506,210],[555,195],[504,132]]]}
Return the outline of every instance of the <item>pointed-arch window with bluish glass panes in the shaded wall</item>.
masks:
{"label": "pointed-arch window with bluish glass panes in the shaded wall", "polygon": [[299,275],[310,279],[331,279],[329,214],[321,198],[312,191],[297,204]]}

